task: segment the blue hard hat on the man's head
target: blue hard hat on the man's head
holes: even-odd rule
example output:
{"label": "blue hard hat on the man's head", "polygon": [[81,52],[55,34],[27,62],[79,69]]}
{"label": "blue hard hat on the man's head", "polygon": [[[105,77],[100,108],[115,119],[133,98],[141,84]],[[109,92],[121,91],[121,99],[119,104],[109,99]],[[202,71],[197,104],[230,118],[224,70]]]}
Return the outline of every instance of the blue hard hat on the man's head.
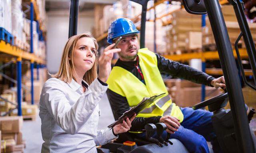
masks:
{"label": "blue hard hat on the man's head", "polygon": [[122,35],[140,33],[134,23],[126,18],[119,18],[113,21],[108,28],[108,43],[112,44],[113,39]]}

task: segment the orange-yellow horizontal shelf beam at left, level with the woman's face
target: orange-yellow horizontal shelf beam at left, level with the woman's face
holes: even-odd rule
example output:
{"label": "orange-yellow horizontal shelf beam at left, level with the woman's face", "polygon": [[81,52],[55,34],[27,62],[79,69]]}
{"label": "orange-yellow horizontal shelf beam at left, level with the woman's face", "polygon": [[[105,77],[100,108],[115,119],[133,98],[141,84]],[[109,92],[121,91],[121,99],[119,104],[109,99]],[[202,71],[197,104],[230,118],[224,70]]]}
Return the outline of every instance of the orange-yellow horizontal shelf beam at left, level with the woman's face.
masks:
{"label": "orange-yellow horizontal shelf beam at left, level with the woman's face", "polygon": [[40,64],[46,64],[45,60],[34,55],[34,53],[28,53],[23,51],[22,49],[10,45],[10,43],[6,43],[5,41],[0,40],[0,53],[5,53],[7,55],[12,55],[17,57],[18,59],[26,59],[31,62],[36,62]]}

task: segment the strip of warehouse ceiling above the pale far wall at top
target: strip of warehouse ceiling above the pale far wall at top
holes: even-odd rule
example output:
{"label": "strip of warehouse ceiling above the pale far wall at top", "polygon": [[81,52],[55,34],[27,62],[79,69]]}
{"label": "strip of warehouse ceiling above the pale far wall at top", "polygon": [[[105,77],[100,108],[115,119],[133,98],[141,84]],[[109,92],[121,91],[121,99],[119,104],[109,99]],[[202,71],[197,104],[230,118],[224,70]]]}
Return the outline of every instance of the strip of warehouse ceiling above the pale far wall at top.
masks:
{"label": "strip of warehouse ceiling above the pale far wall at top", "polygon": [[[95,4],[113,4],[117,0],[79,0],[79,10],[91,10]],[[70,0],[46,0],[46,11],[69,10]]]}

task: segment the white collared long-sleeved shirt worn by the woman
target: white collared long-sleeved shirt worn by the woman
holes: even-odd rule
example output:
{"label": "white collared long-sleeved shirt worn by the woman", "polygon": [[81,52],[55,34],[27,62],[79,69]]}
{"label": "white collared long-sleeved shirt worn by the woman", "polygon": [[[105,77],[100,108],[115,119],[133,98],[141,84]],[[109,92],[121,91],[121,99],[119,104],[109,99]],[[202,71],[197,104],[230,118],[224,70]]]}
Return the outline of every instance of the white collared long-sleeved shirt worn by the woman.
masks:
{"label": "white collared long-sleeved shirt worn by the woman", "polygon": [[40,96],[42,153],[97,153],[95,145],[116,138],[111,129],[97,130],[99,106],[108,86],[95,79],[86,92],[75,80],[47,80]]}

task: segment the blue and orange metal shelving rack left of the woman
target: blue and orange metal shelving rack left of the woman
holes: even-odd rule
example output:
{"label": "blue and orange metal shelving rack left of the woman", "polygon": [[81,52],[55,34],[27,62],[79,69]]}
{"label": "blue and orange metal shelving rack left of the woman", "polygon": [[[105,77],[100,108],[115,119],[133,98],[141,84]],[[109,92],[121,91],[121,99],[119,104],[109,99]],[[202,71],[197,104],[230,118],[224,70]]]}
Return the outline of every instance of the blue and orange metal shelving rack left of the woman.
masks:
{"label": "blue and orange metal shelving rack left of the woman", "polygon": [[[5,41],[0,40],[0,53],[2,53],[6,59],[11,59],[8,63],[2,65],[0,67],[0,70],[4,67],[11,65],[13,63],[16,63],[16,73],[17,73],[17,80],[13,79],[12,76],[8,77],[7,75],[4,75],[3,73],[0,73],[4,78],[10,80],[12,83],[17,84],[17,108],[18,108],[18,116],[22,116],[22,88],[28,89],[24,84],[22,84],[22,61],[30,61],[30,71],[31,71],[31,104],[34,104],[34,63],[36,63],[36,69],[37,69],[37,80],[39,80],[39,69],[46,67],[46,61],[45,59],[42,59],[34,54],[33,51],[33,25],[32,21],[34,21],[34,11],[36,14],[36,21],[39,25],[39,30],[37,29],[37,32],[40,33],[40,40],[44,39],[44,33],[42,31],[45,31],[42,20],[40,18],[40,13],[38,10],[38,5],[36,3],[36,0],[30,0],[30,53],[27,51],[24,51],[16,46],[11,45],[10,43],[6,43]],[[29,7],[28,7],[29,8]],[[11,67],[11,72],[13,72],[13,67]],[[28,89],[29,90],[29,89]],[[8,100],[0,97],[2,100],[9,102]],[[11,103],[11,102],[10,102]]]}

